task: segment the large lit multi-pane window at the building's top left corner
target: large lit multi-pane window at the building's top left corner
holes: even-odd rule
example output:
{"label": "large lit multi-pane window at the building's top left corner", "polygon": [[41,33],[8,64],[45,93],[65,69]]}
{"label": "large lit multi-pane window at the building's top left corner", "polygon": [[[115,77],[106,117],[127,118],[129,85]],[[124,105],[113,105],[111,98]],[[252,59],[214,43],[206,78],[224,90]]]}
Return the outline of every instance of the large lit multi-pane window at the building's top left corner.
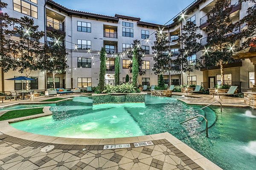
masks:
{"label": "large lit multi-pane window at the building's top left corner", "polygon": [[[35,1],[36,0],[31,0],[31,2]],[[13,0],[13,10],[34,18],[38,18],[37,6],[34,6],[31,3],[25,2],[23,0]]]}

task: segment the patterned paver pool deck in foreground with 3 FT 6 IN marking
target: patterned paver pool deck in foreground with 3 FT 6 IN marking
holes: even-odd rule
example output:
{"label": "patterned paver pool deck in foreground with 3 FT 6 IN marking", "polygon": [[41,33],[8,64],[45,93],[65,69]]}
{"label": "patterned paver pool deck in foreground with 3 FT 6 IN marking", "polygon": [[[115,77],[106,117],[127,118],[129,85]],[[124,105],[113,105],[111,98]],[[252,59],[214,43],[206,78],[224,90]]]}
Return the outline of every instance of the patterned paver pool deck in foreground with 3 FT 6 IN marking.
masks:
{"label": "patterned paver pool deck in foreground with 3 FT 6 IN marking", "polygon": [[[136,144],[139,142],[148,145],[139,146]],[[122,144],[127,148],[116,148],[123,146]],[[41,152],[43,147],[49,145],[53,145],[54,148]],[[106,149],[107,145],[112,149]],[[8,121],[0,122],[1,168],[3,170],[221,170],[170,133],[116,139],[72,139],[27,133],[10,126]]]}

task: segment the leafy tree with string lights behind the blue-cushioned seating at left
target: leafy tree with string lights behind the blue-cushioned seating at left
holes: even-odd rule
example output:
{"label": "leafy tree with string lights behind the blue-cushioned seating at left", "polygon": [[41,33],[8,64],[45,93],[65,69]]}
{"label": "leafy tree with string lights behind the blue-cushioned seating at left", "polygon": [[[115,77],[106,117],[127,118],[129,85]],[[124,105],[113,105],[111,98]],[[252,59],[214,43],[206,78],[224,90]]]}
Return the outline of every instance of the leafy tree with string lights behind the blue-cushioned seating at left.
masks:
{"label": "leafy tree with string lights behind the blue-cushioned seating at left", "polygon": [[67,69],[67,55],[65,44],[57,31],[49,35],[50,40],[46,42],[44,57],[42,57],[42,71],[52,74],[53,88],[55,88],[55,75],[64,73]]}

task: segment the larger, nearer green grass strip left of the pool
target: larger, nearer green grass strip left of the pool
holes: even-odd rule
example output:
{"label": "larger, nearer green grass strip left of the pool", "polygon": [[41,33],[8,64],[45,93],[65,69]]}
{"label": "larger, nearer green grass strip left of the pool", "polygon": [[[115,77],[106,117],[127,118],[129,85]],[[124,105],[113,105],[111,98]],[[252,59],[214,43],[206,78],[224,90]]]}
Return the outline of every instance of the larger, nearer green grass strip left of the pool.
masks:
{"label": "larger, nearer green grass strip left of the pool", "polygon": [[0,121],[8,120],[8,119],[15,119],[19,117],[31,116],[35,114],[41,114],[44,108],[34,108],[34,109],[22,109],[22,110],[15,110],[15,111],[8,111],[0,116]]}

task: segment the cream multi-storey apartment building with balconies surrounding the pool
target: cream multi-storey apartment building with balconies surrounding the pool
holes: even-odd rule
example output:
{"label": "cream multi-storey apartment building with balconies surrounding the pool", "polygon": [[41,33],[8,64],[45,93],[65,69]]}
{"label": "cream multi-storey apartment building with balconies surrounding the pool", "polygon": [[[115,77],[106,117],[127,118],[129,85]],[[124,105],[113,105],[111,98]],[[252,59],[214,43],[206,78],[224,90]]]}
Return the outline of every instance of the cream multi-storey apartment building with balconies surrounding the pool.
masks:
{"label": "cream multi-storey apartment building with balconies surrounding the pool", "polygon": [[[192,59],[199,58],[204,52],[204,45],[207,45],[207,17],[206,14],[214,6],[216,0],[196,0],[191,6],[186,8],[185,18],[182,21],[173,20],[165,26],[164,31],[169,32],[169,40],[177,39],[181,34],[181,28],[187,20],[195,22],[200,26],[202,51]],[[231,0],[230,5],[233,11],[230,14],[232,21],[237,21],[244,17],[246,10],[252,3],[238,3],[239,0]],[[99,82],[99,51],[105,47],[107,53],[105,83],[113,85],[114,80],[114,56],[120,54],[120,81],[124,82],[126,74],[130,76],[128,69],[130,60],[126,51],[129,51],[134,40],[141,41],[144,49],[142,69],[145,75],[139,76],[138,84],[156,85],[157,75],[152,71],[154,65],[152,46],[154,45],[154,31],[163,27],[160,24],[147,23],[138,17],[130,17],[116,14],[115,16],[105,16],[84,11],[76,11],[52,0],[3,0],[8,4],[6,9],[11,17],[29,16],[35,20],[40,31],[45,31],[46,35],[41,40],[42,43],[49,41],[50,33],[57,30],[63,37],[66,45],[69,69],[64,74],[55,76],[55,87],[60,88],[86,88],[96,86]],[[169,20],[172,16],[166,16]],[[12,28],[10,28],[12,29]],[[243,27],[241,27],[243,29]],[[240,29],[239,29],[240,30]],[[237,30],[236,30],[237,31]],[[236,34],[234,31],[231,34]],[[152,34],[152,35],[151,35]],[[241,42],[238,42],[238,44]],[[178,43],[170,42],[169,50],[172,51],[172,59],[178,55],[178,50],[182,46]],[[225,81],[240,83],[241,88],[251,88],[254,84],[254,67],[249,60],[230,63],[224,66]],[[187,84],[187,75],[180,71],[181,66],[172,64],[173,71],[166,73],[164,79],[166,84],[180,85]],[[23,74],[17,71],[0,73],[2,81],[4,79]],[[34,71],[31,77],[35,81],[29,82],[32,89],[44,90],[52,88],[52,75],[47,72]],[[215,85],[220,80],[220,71],[217,67],[208,70],[201,69],[190,74],[192,84],[204,85],[207,88]],[[12,91],[21,89],[19,81],[3,81],[0,91]]]}

